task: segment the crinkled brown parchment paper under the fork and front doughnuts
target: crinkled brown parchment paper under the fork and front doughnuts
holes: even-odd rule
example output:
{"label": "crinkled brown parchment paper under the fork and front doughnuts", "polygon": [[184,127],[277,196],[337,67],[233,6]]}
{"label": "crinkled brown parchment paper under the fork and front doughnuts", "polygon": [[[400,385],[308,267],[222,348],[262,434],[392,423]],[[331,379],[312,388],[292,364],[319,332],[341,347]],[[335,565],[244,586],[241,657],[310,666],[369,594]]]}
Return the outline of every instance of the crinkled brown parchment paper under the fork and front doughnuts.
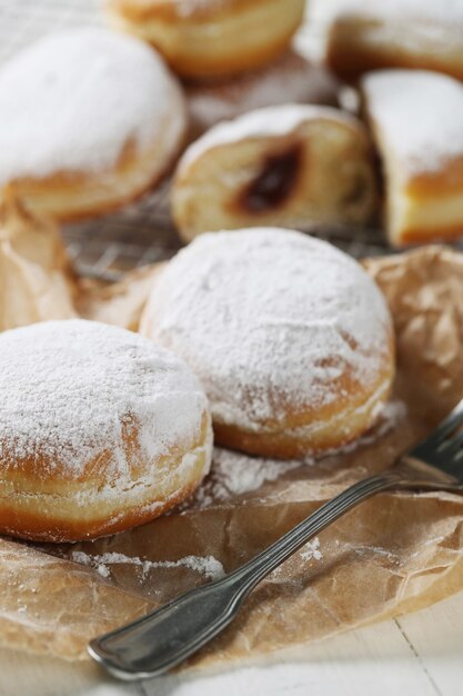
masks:
{"label": "crinkled brown parchment paper under the fork and front doughnuts", "polygon": [[[266,478],[274,480],[246,493],[220,480],[215,468],[182,510],[115,537],[58,547],[1,540],[1,644],[85,657],[90,638],[205,579],[175,565],[109,563],[98,571],[93,557],[117,553],[119,558],[177,561],[213,556],[231,570],[348,485],[390,466],[433,427],[463,395],[463,256],[430,247],[365,265],[386,295],[396,328],[395,419],[380,424],[348,453],[312,465],[281,464],[281,477],[270,463]],[[81,288],[80,311],[137,328],[151,272],[158,270],[138,272],[133,284]],[[223,468],[233,455],[219,454]],[[260,464],[251,460],[250,469]],[[72,563],[76,551],[90,566]],[[384,494],[321,534],[318,553],[304,547],[275,570],[192,664],[318,640],[460,589],[463,497]]]}

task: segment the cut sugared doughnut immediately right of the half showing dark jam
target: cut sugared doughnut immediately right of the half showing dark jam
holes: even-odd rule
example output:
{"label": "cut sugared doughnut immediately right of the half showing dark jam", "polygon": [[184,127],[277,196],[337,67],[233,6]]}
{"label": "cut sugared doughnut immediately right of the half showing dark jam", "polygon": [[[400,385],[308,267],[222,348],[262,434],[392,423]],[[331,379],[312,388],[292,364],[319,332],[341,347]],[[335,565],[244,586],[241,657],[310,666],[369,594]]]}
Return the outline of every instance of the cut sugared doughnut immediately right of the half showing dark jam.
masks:
{"label": "cut sugared doughnut immediately right of the half showing dark jam", "polygon": [[385,227],[404,246],[463,237],[463,86],[437,72],[380,70],[362,81],[385,179]]}

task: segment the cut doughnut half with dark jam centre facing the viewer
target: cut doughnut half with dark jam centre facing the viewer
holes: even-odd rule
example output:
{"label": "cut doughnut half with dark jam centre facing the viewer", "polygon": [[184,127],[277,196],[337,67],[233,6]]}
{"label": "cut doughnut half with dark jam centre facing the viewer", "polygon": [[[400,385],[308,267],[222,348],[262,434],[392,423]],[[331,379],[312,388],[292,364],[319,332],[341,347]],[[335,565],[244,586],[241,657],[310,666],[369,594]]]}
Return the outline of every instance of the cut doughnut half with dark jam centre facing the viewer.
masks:
{"label": "cut doughnut half with dark jam centre facing the viewer", "polygon": [[269,107],[219,123],[187,149],[172,189],[185,240],[262,225],[364,223],[375,205],[363,125],[313,105]]}

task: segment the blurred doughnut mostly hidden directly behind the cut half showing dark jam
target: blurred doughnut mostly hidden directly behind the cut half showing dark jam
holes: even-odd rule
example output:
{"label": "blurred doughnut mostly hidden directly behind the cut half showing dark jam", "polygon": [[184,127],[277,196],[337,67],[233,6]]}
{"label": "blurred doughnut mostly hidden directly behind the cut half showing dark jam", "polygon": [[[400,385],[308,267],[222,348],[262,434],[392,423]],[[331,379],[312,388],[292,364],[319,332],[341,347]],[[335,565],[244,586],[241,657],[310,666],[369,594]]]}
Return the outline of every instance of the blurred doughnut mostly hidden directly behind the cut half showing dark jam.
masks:
{"label": "blurred doughnut mostly hidden directly behind the cut half showing dark jam", "polygon": [[214,82],[188,82],[190,137],[246,111],[283,103],[339,106],[340,82],[295,50],[252,72]]}

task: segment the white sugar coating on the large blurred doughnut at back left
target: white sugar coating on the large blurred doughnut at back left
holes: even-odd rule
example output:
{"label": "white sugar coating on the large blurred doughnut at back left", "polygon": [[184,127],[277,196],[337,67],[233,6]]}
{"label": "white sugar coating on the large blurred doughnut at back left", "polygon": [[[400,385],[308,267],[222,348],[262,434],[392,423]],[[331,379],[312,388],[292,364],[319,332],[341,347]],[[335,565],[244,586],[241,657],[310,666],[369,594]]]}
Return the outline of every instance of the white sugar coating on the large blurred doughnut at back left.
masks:
{"label": "white sugar coating on the large blurred doughnut at back left", "polygon": [[112,168],[128,143],[183,129],[180,88],[143,42],[103,29],[50,34],[0,70],[0,185]]}

